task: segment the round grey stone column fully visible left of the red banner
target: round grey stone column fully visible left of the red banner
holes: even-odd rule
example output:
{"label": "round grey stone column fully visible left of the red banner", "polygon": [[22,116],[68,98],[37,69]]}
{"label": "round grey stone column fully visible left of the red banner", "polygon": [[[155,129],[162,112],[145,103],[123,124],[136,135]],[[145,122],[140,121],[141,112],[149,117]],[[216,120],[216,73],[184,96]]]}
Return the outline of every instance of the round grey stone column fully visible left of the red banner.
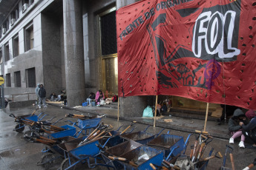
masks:
{"label": "round grey stone column fully visible left of the red banner", "polygon": [[63,0],[65,76],[68,106],[85,101],[82,0]]}

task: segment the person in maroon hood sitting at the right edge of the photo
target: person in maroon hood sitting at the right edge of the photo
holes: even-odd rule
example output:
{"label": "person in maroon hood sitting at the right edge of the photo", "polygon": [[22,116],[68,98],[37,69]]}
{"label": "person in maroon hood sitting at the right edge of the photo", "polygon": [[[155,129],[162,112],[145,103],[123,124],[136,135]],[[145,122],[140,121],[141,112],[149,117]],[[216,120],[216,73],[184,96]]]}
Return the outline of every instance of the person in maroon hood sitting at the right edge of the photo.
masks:
{"label": "person in maroon hood sitting at the right edge of the photo", "polygon": [[249,109],[249,111],[246,112],[246,117],[249,118],[251,121],[246,125],[243,122],[240,122],[240,126],[242,126],[243,129],[243,135],[246,137],[249,137],[253,141],[252,146],[246,146],[246,148],[253,148],[256,149],[256,114],[255,111],[252,109]]}

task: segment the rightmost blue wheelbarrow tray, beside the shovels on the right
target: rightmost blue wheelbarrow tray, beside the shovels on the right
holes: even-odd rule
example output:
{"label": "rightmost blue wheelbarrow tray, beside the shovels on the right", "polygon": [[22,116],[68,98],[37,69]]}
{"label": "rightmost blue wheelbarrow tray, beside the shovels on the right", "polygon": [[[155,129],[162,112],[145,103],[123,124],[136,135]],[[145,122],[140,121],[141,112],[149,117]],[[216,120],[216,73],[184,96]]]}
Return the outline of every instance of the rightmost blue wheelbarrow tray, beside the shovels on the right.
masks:
{"label": "rightmost blue wheelbarrow tray, beside the shovels on the right", "polygon": [[165,157],[168,157],[168,154],[171,152],[171,150],[178,146],[177,149],[174,149],[171,155],[172,157],[175,157],[177,154],[180,154],[180,152],[183,151],[184,144],[185,143],[182,136],[162,134],[154,138],[154,140],[151,140],[148,143],[148,146],[164,150]]}

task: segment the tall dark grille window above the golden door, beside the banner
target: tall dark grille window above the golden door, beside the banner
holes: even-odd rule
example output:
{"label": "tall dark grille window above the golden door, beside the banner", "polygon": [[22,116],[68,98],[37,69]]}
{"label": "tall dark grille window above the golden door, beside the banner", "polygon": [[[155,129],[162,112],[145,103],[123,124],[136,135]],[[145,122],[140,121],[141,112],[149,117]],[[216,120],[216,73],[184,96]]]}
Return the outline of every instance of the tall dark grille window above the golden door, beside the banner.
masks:
{"label": "tall dark grille window above the golden door, beside the banner", "polygon": [[116,10],[101,16],[100,26],[102,55],[116,53]]}

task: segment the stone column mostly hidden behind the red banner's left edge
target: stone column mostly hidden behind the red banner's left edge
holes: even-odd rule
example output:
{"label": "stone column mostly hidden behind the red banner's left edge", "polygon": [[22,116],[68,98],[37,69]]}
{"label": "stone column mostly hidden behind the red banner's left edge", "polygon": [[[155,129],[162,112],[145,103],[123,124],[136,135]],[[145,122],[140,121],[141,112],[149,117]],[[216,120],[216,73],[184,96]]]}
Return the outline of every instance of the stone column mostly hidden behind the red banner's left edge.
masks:
{"label": "stone column mostly hidden behind the red banner's left edge", "polygon": [[[133,4],[140,0],[116,0],[116,10],[128,4]],[[118,56],[117,56],[118,57]],[[142,117],[143,110],[148,104],[148,96],[131,96],[122,98],[119,96],[120,117],[133,118]]]}

